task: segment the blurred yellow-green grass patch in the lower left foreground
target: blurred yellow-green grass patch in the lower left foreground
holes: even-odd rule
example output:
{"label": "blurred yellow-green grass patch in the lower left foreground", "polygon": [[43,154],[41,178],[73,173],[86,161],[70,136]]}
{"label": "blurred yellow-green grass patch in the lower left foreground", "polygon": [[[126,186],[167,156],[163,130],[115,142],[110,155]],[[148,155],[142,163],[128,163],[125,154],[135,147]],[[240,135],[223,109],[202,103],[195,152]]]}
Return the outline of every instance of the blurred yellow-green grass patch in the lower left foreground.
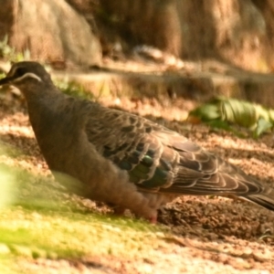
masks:
{"label": "blurred yellow-green grass patch in the lower left foreground", "polygon": [[[5,174],[8,169],[5,169]],[[0,210],[0,269],[15,258],[82,258],[110,256],[133,259],[161,246],[163,230],[141,220],[100,215],[80,205],[52,178],[10,168],[14,203]],[[18,179],[19,178],[19,179]],[[9,188],[7,188],[9,189]],[[21,191],[26,195],[21,195]],[[8,250],[1,253],[1,247]],[[3,255],[3,256],[2,256]]]}

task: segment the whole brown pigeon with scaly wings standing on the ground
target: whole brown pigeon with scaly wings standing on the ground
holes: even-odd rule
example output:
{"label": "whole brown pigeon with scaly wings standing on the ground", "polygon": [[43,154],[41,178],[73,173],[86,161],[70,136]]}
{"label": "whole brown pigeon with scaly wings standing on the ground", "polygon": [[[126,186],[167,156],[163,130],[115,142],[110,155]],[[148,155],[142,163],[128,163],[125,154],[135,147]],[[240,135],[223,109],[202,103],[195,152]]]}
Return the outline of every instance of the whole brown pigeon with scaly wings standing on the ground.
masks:
{"label": "whole brown pigeon with scaly wings standing on the ground", "polygon": [[49,169],[77,195],[152,223],[181,195],[235,196],[274,210],[273,188],[163,125],[64,94],[38,62],[13,64],[3,85],[21,90]]}

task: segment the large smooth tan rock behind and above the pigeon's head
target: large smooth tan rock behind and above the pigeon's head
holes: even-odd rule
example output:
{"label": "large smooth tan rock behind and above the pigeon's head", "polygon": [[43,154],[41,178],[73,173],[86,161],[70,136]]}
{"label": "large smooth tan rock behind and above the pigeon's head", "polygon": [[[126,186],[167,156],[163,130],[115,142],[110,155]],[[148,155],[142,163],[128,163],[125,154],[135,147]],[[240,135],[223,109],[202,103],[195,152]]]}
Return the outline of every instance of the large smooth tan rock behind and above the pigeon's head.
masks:
{"label": "large smooth tan rock behind and above the pigeon's head", "polygon": [[9,44],[16,51],[28,49],[31,58],[53,63],[67,62],[83,66],[100,64],[98,37],[92,33],[86,19],[66,1],[4,2],[5,15],[0,23],[4,29],[0,36],[3,38],[7,34]]}

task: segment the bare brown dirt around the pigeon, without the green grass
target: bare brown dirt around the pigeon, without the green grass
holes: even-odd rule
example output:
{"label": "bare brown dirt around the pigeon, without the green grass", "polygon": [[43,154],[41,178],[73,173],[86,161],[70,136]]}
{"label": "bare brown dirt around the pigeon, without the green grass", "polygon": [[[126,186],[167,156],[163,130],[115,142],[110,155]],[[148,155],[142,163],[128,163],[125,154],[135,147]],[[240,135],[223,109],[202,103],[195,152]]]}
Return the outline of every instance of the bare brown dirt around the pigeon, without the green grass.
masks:
{"label": "bare brown dirt around the pigeon, without the green grass", "polygon": [[[212,153],[237,164],[264,184],[274,186],[273,136],[258,141],[238,139],[228,132],[214,132],[184,121],[195,102],[176,100],[163,105],[155,100],[101,100],[102,104],[140,113],[187,136]],[[113,104],[114,102],[114,104]],[[163,118],[159,113],[163,112]],[[171,113],[169,120],[168,113]],[[176,117],[184,117],[177,119]],[[38,150],[21,97],[2,95],[0,140],[22,153],[0,154],[0,162],[48,175]],[[87,205],[90,206],[90,205]],[[105,205],[93,208],[105,214]],[[274,213],[246,201],[216,196],[183,196],[159,213],[159,226],[169,230],[166,245],[147,258],[113,256],[79,259],[17,258],[27,273],[274,273]]]}

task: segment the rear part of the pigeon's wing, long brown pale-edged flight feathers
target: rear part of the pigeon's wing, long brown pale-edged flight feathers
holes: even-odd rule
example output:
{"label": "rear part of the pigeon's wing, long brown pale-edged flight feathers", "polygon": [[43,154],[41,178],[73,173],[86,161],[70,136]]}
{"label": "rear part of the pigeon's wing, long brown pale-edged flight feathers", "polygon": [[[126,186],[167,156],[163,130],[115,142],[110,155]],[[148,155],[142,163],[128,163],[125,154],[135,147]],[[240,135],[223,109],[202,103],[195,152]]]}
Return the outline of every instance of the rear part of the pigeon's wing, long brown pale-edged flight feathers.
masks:
{"label": "rear part of the pigeon's wing, long brown pale-edged flight feathers", "polygon": [[[237,166],[227,163],[176,132],[156,132],[166,146],[179,154],[173,184],[162,192],[184,195],[251,195],[264,186]],[[163,136],[163,137],[162,137]]]}

